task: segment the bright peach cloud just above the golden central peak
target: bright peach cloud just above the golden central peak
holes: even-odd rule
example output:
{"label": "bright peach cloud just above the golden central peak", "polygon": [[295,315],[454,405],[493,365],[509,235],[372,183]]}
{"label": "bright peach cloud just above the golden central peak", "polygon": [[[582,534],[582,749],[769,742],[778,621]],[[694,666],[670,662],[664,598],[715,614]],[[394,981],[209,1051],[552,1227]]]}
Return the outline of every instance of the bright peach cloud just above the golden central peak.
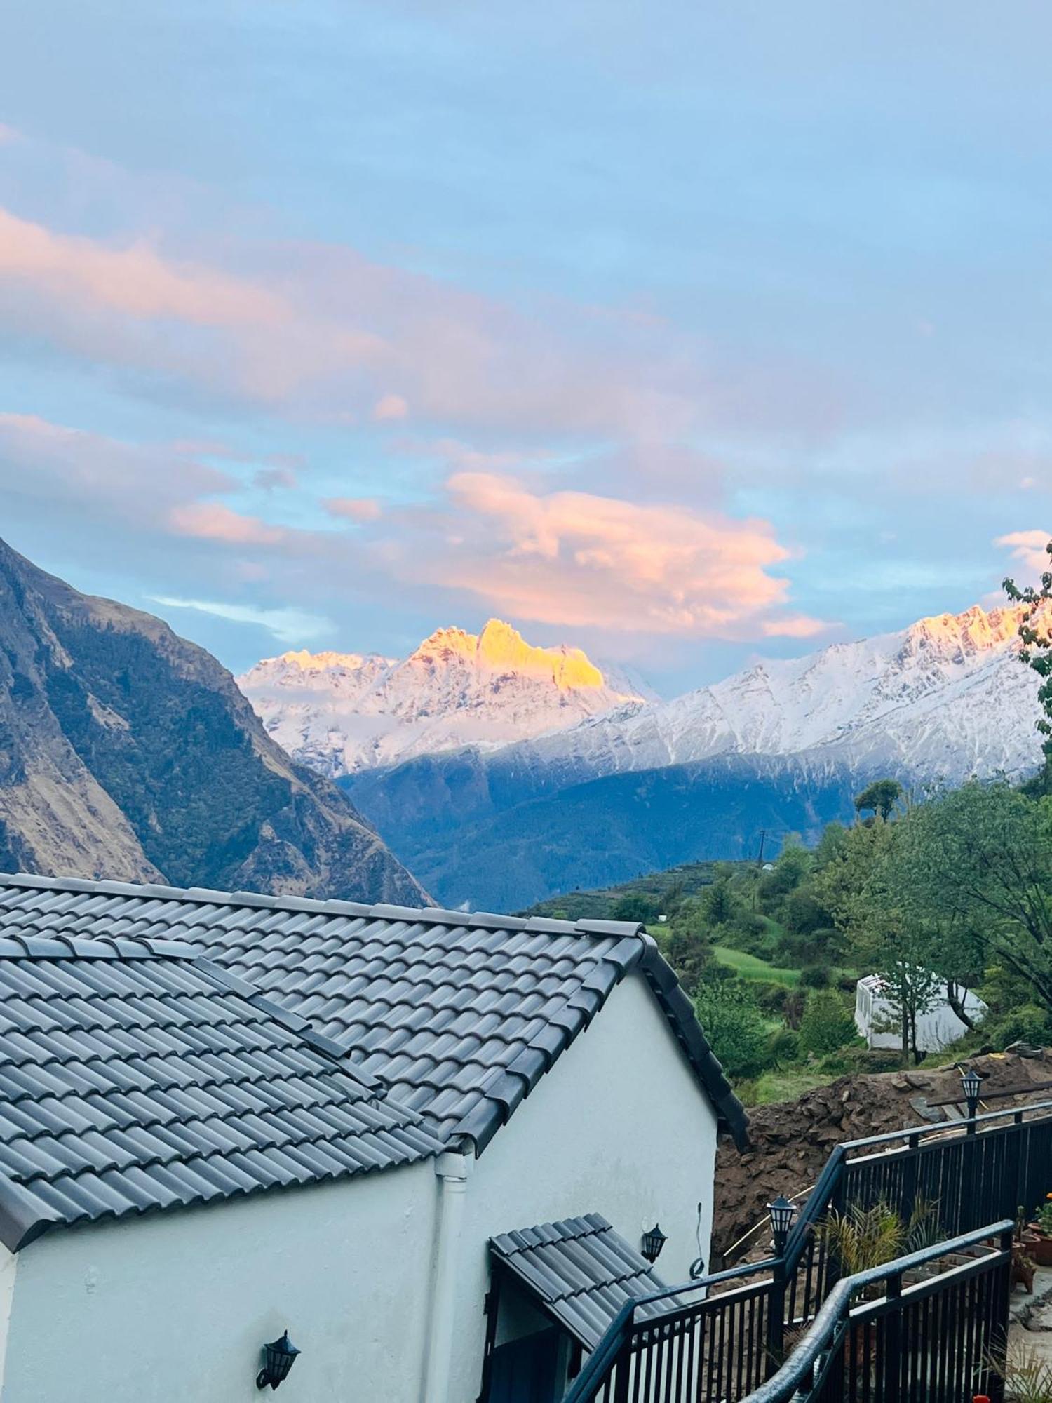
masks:
{"label": "bright peach cloud just above the golden central peak", "polygon": [[[613,633],[807,637],[781,616],[790,551],[767,522],[576,491],[533,491],[498,473],[454,473],[426,549],[389,544],[389,564],[464,589],[487,607]],[[419,543],[418,543],[419,544]]]}

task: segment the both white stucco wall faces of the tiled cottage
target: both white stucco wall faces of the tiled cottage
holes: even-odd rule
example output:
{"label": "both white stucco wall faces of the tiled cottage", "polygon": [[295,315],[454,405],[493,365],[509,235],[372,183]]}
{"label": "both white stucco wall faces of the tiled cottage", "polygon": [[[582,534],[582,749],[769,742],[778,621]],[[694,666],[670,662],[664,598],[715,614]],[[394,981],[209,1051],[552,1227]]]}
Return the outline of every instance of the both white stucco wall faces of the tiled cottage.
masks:
{"label": "both white stucco wall faces of the tiled cottage", "polygon": [[[478,1395],[491,1236],[599,1212],[638,1246],[659,1221],[658,1271],[683,1281],[699,1202],[708,1253],[715,1139],[707,1097],[630,975],[467,1181],[449,1403]],[[0,1403],[250,1403],[259,1347],[286,1327],[303,1351],[286,1403],[419,1403],[438,1205],[425,1162],[53,1229],[18,1256]],[[0,1344],[3,1291],[0,1271]]]}

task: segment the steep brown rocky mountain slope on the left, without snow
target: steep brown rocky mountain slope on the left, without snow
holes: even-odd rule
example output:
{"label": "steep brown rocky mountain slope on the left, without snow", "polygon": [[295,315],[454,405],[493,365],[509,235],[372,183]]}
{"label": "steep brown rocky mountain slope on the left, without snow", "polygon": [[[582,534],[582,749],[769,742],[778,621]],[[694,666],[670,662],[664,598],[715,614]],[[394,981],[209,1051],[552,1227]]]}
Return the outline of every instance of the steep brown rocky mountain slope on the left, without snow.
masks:
{"label": "steep brown rocky mountain slope on the left, without snow", "polygon": [[215,658],[3,542],[0,868],[424,902]]}

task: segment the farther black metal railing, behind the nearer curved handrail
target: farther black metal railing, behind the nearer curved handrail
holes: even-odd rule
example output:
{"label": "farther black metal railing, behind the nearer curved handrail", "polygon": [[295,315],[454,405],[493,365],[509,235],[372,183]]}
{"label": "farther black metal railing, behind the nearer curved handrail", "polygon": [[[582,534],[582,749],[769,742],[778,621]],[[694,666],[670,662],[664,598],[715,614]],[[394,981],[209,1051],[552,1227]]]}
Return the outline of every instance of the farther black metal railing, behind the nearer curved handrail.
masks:
{"label": "farther black metal railing, behind the nearer curved handrail", "polygon": [[830,1209],[886,1204],[908,1222],[923,1205],[945,1253],[1052,1188],[1049,1113],[1042,1101],[837,1145],[780,1256],[627,1302],[564,1403],[738,1403],[832,1299],[837,1263],[816,1230]]}

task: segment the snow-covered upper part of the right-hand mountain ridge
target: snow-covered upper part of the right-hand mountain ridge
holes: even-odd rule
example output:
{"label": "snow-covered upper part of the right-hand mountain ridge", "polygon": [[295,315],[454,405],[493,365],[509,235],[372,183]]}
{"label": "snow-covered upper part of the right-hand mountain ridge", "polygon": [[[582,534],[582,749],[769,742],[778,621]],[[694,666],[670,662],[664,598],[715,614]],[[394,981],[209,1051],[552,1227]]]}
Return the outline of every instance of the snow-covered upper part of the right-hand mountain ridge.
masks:
{"label": "snow-covered upper part of the right-hand mountain ridge", "polygon": [[1018,609],[978,605],[901,633],[757,662],[673,702],[614,711],[516,746],[523,763],[589,776],[715,755],[801,756],[913,783],[1021,776],[1041,759]]}

